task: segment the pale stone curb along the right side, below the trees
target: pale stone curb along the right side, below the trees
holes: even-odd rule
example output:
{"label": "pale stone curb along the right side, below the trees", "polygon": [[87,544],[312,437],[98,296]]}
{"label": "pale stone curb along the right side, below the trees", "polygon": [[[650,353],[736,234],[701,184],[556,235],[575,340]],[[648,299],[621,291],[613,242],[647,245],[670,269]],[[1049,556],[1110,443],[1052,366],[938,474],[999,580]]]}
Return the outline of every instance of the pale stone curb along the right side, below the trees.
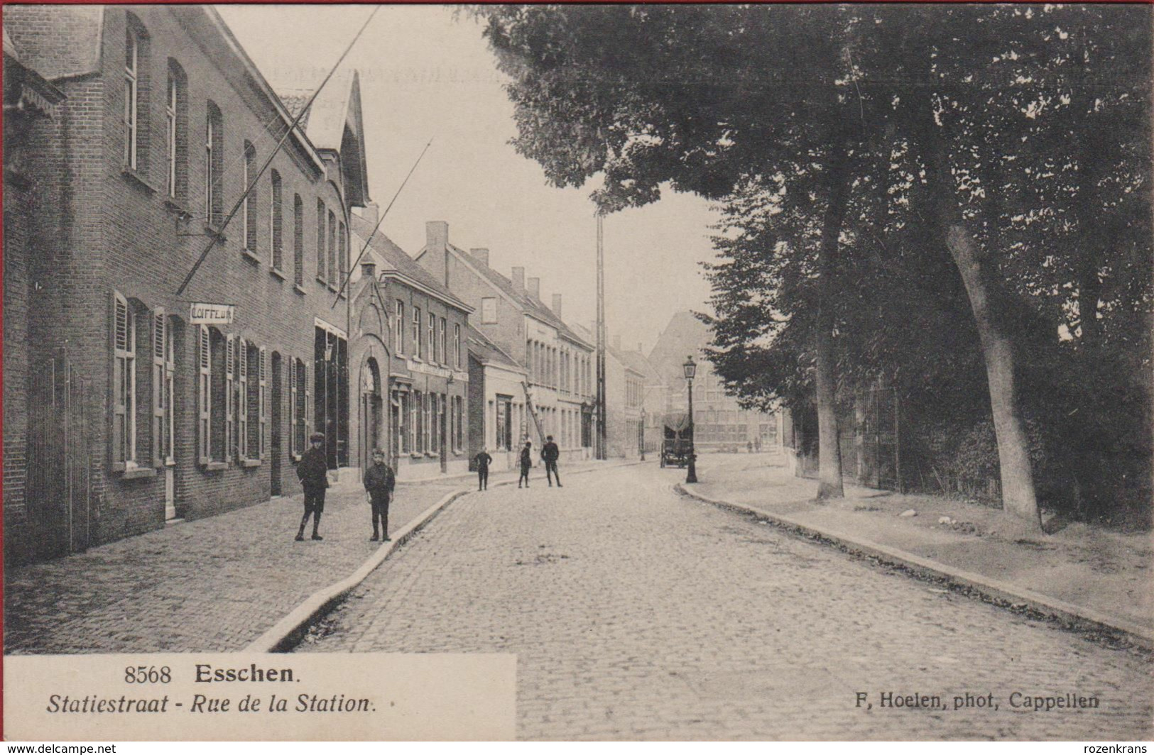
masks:
{"label": "pale stone curb along the right side, below the trees", "polygon": [[713,506],[755,514],[799,535],[832,543],[849,553],[871,557],[884,564],[902,567],[917,575],[943,580],[947,584],[967,588],[987,598],[1004,602],[1014,607],[1026,606],[1039,613],[1056,618],[1070,627],[1124,634],[1134,644],[1146,650],[1154,650],[1154,631],[1131,621],[1109,617],[1093,609],[1073,605],[1072,603],[1051,598],[974,572],[954,568],[941,561],[915,556],[897,548],[881,545],[833,529],[818,529],[810,524],[803,524],[786,514],[774,514],[755,506],[710,498],[687,490],[684,483],[677,483],[674,485],[674,490],[687,498],[694,498],[706,504],[712,504]]}

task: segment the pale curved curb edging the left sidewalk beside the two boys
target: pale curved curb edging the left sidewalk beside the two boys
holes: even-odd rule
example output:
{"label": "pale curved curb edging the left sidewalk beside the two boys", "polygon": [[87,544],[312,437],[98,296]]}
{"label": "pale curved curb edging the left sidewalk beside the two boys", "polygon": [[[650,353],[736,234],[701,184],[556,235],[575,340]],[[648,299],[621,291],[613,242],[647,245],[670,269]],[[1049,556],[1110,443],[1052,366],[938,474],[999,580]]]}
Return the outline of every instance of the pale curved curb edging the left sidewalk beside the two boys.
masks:
{"label": "pale curved curb edging the left sidewalk beside the two boys", "polygon": [[[599,469],[615,469],[619,467],[631,467],[635,463],[644,462],[627,462],[621,465],[613,465],[612,467],[592,467],[589,469],[575,469],[570,474],[580,475],[589,471],[597,471]],[[475,473],[474,473],[475,474]],[[493,483],[493,488],[501,488],[504,485],[511,485],[515,480],[504,480],[501,482]],[[487,490],[487,489],[486,489]],[[368,558],[367,561],[361,564],[360,568],[353,572],[350,576],[330,584],[329,587],[321,588],[304,603],[293,609],[288,616],[277,621],[268,632],[257,637],[254,642],[249,643],[248,647],[243,649],[243,652],[288,652],[297,644],[300,643],[301,637],[308,632],[308,627],[317,621],[325,613],[331,611],[337,606],[352,590],[364,582],[369,574],[380,566],[384,559],[405,544],[405,542],[412,537],[418,530],[428,524],[434,516],[440,514],[449,504],[467,496],[469,493],[475,493],[477,491],[472,488],[465,490],[456,490],[437,503],[433,504],[424,512],[417,515],[413,521],[409,522],[402,527],[392,537],[392,542],[387,543],[379,548],[373,556]]]}

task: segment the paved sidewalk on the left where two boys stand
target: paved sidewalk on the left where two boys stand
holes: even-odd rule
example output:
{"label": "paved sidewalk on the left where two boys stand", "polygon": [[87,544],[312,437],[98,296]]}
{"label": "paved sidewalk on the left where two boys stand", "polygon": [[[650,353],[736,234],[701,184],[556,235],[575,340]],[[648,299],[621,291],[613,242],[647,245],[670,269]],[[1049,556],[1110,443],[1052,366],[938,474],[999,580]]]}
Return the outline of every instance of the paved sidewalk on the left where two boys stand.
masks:
{"label": "paved sidewalk on the left where two boys stand", "polygon": [[[494,473],[489,483],[516,478]],[[474,486],[475,476],[398,482],[390,533]],[[355,572],[381,545],[368,539],[369,507],[359,484],[330,490],[322,542],[293,541],[302,511],[298,493],[6,571],[3,651],[241,650],[314,592]]]}

